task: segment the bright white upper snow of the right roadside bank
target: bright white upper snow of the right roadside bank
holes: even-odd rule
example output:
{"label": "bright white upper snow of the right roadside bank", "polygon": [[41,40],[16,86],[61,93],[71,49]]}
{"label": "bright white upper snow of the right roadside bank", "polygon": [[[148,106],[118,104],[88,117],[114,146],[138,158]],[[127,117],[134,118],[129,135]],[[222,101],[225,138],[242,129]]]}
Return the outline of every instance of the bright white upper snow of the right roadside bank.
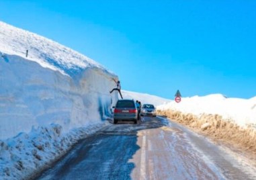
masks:
{"label": "bright white upper snow of the right roadside bank", "polygon": [[251,99],[227,98],[221,94],[183,97],[180,103],[171,101],[165,105],[159,105],[157,108],[172,109],[194,115],[218,114],[240,126],[256,124],[256,97]]}

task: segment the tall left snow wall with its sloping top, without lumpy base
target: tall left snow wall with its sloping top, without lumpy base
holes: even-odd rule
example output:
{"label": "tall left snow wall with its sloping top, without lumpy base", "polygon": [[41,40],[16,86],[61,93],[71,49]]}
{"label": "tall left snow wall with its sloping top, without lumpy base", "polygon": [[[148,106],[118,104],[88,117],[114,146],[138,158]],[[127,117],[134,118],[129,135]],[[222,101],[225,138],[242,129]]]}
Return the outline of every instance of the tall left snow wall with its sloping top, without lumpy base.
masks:
{"label": "tall left snow wall with its sloping top, without lumpy base", "polygon": [[0,140],[33,126],[68,132],[101,121],[118,98],[112,78],[86,56],[0,21]]}

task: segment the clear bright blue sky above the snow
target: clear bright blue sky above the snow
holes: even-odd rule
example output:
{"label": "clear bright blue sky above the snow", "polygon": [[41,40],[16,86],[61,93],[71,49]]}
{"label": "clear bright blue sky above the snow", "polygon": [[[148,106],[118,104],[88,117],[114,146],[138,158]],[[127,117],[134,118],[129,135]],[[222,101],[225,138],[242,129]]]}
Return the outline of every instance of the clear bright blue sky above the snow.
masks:
{"label": "clear bright blue sky above the snow", "polygon": [[250,98],[255,9],[254,0],[1,0],[0,20],[93,58],[120,77],[122,89]]}

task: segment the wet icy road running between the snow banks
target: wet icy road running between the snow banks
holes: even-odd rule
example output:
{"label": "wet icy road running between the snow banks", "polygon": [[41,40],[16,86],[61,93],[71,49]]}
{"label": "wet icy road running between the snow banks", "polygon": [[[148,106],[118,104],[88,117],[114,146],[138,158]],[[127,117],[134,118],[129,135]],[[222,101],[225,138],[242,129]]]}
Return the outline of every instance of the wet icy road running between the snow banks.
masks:
{"label": "wet icy road running between the snow banks", "polygon": [[110,124],[38,179],[256,179],[256,171],[165,118]]}

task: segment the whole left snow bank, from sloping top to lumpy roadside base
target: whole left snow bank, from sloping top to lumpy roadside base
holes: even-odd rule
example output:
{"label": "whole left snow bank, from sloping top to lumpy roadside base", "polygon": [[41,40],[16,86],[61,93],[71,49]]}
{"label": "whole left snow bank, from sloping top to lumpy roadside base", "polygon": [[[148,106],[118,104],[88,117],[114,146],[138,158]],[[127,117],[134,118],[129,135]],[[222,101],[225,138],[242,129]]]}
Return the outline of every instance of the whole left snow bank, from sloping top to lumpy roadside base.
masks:
{"label": "whole left snow bank, from sloping top to lumpy roadside base", "polygon": [[112,79],[86,56],[0,21],[0,179],[33,176],[108,123]]}

